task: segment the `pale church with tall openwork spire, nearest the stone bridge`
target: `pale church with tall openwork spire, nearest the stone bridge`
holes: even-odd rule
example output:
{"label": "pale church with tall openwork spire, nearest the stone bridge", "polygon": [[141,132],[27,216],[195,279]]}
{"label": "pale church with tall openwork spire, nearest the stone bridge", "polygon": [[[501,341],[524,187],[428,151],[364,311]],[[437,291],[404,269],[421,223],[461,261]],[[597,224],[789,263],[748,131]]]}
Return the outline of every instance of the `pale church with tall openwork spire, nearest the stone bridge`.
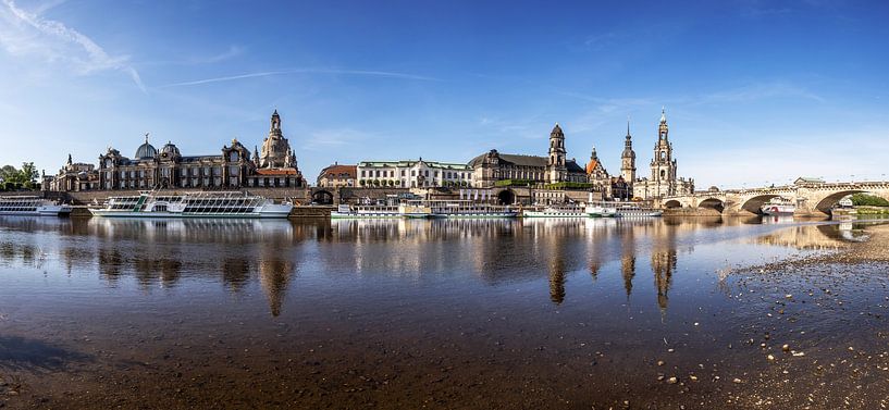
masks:
{"label": "pale church with tall openwork spire, nearest the stone bridge", "polygon": [[[633,169],[635,167],[633,163]],[[660,124],[657,127],[657,141],[654,145],[654,157],[651,162],[651,175],[649,177],[638,178],[633,182],[633,195],[642,199],[652,199],[664,196],[693,194],[694,179],[677,177],[676,170],[677,163],[672,157],[672,142],[669,140],[667,114],[662,110]]]}

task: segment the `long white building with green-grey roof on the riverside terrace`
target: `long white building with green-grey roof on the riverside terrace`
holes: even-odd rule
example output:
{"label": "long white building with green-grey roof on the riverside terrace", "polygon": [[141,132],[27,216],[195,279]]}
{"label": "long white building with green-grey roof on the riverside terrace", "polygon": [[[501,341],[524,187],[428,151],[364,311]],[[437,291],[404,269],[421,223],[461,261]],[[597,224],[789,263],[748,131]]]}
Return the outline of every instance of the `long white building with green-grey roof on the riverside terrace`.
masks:
{"label": "long white building with green-grey roof on the riverside terrace", "polygon": [[356,169],[359,187],[473,187],[467,164],[418,160],[361,161]]}

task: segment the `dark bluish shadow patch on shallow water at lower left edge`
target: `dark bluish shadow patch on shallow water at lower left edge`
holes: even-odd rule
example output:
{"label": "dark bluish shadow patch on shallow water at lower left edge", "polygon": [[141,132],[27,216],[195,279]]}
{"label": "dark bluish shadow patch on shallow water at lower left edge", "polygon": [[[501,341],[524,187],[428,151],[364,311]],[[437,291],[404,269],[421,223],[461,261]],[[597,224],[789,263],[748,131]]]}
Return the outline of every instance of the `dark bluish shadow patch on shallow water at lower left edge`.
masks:
{"label": "dark bluish shadow patch on shallow water at lower left edge", "polygon": [[70,362],[92,358],[48,343],[18,336],[0,336],[0,369],[47,371],[60,370]]}

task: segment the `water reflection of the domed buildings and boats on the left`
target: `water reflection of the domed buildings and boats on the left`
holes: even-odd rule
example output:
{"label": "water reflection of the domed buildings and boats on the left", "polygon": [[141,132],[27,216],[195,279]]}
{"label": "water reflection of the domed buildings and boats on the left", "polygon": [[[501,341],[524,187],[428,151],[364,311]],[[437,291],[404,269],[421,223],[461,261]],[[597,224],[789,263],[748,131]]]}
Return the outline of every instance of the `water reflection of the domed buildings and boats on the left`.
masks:
{"label": "water reflection of the domed buildings and boats on the left", "polygon": [[109,285],[132,277],[144,291],[175,287],[183,278],[219,274],[219,282],[229,291],[239,293],[256,278],[273,315],[281,313],[296,272],[296,260],[287,250],[330,228],[288,221],[97,218],[52,223],[0,220],[0,224],[29,232],[23,236],[29,240],[40,240],[41,231],[57,236],[46,235],[52,240],[44,241],[42,251],[22,238],[0,240],[0,261],[8,264],[34,265],[28,262],[34,256],[57,253],[69,274],[95,269]]}

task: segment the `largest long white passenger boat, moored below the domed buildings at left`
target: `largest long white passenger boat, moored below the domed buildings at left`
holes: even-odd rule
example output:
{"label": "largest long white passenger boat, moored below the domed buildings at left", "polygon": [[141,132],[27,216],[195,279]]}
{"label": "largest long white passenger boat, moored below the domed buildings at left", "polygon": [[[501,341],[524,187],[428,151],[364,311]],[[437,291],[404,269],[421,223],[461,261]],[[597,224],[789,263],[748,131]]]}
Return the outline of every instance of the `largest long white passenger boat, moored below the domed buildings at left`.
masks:
{"label": "largest long white passenger boat, moored below the domed buildings at left", "polygon": [[293,203],[240,191],[186,192],[110,197],[101,208],[91,208],[95,216],[123,218],[287,218]]}

